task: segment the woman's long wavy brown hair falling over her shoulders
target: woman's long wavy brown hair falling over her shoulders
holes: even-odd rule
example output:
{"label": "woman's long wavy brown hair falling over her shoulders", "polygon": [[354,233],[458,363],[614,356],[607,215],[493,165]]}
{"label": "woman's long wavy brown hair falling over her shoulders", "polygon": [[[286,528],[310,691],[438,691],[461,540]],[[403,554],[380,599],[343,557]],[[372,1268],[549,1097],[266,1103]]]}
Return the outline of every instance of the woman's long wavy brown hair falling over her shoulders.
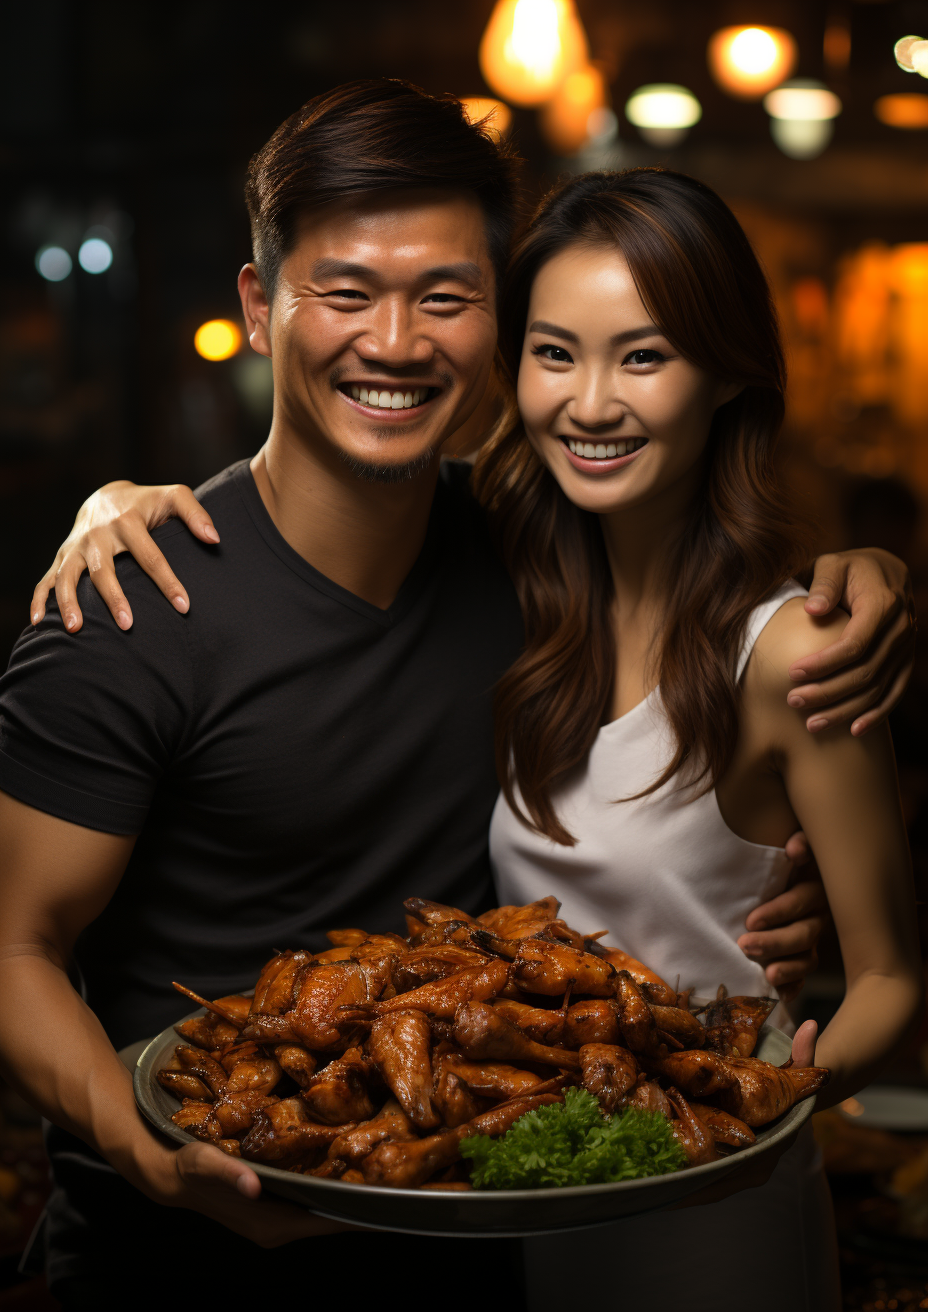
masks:
{"label": "woman's long wavy brown hair falling over her shoulders", "polygon": [[[668,569],[655,653],[676,750],[644,794],[684,766],[686,782],[707,790],[738,739],[735,672],[747,618],[807,560],[773,466],[785,388],[777,315],[747,236],[710,188],[665,169],[585,173],[542,201],[513,251],[500,315],[500,353],[513,384],[532,283],[578,243],[621,252],[673,346],[742,384],[713,420],[705,483]],[[599,517],[568,501],[517,420],[482,450],[474,485],[526,630],[525,649],[496,690],[500,782],[530,828],[570,846],[575,840],[551,794],[589,752],[616,677],[613,585]]]}

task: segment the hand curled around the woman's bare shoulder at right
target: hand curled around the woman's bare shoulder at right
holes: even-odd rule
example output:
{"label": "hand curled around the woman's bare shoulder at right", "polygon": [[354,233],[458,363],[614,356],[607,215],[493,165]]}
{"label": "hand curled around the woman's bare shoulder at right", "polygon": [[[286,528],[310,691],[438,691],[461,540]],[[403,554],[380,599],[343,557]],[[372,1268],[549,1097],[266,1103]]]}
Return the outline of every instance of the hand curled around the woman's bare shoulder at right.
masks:
{"label": "hand curled around the woman's bare shoulder at right", "polygon": [[806,727],[851,724],[854,736],[882,724],[896,705],[915,660],[915,601],[908,569],[889,551],[819,556],[806,610],[851,615],[839,642],[790,666],[797,687],[786,701],[809,711]]}

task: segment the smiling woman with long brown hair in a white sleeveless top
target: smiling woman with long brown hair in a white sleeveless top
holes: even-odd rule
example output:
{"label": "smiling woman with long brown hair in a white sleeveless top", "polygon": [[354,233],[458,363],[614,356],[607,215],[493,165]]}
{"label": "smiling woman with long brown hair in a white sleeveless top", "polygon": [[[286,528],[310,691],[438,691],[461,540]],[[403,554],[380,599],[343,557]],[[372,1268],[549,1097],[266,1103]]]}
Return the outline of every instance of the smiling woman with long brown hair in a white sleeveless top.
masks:
{"label": "smiling woman with long brown hair in a white sleeveless top", "polygon": [[[608,928],[697,994],[765,993],[736,939],[746,908],[785,886],[801,825],[848,988],[794,1056],[814,1051],[837,1102],[914,1023],[919,954],[887,731],[812,736],[786,705],[790,664],[847,621],[810,617],[791,577],[802,546],[772,470],[784,365],[764,274],[700,182],[587,174],[543,202],[504,304],[522,424],[475,471],[528,635],[497,690],[500,899],[555,893],[570,924]],[[584,1292],[596,1270],[605,1291],[613,1241],[626,1258],[663,1242],[675,1271],[706,1271],[673,1305],[837,1305],[811,1135],[763,1187],[609,1236],[532,1241],[530,1305],[562,1305],[578,1271]],[[761,1236],[790,1263],[759,1290]],[[620,1263],[617,1292],[671,1305],[652,1267]]]}

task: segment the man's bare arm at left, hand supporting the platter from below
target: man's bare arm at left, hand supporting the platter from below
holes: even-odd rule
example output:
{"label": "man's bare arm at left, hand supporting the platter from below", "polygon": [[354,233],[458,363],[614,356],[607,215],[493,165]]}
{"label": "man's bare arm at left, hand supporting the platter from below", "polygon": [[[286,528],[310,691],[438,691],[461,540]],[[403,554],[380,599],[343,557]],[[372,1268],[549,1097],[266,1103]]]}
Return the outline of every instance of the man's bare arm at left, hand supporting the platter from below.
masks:
{"label": "man's bare arm at left, hand supporting the platter from below", "polygon": [[55,1124],[148,1198],[189,1207],[263,1246],[343,1229],[259,1199],[261,1182],[211,1144],[173,1148],[135,1107],[131,1076],[67,977],[77,934],[113,896],[134,838],[45,815],[0,792],[0,1068]]}

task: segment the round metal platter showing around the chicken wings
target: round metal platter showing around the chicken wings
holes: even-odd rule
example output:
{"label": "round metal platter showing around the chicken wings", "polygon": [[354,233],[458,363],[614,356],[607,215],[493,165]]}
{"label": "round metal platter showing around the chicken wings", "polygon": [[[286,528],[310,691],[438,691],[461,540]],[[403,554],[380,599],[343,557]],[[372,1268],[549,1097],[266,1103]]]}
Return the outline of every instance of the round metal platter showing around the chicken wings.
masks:
{"label": "round metal platter showing around the chicken wings", "polygon": [[[192,1012],[190,1015],[202,1015]],[[180,1103],[155,1078],[181,1042],[173,1027],[163,1030],[144,1048],[135,1065],[135,1101],[148,1120],[179,1144],[192,1139],[172,1122]],[[781,1030],[764,1026],[756,1056],[780,1064],[790,1052]],[[602,1225],[622,1216],[656,1211],[680,1203],[689,1194],[717,1185],[755,1166],[757,1158],[781,1152],[809,1120],[814,1098],[797,1103],[785,1117],[757,1131],[757,1143],[732,1157],[671,1176],[629,1179],[617,1185],[581,1185],[570,1189],[473,1190],[470,1193],[389,1189],[381,1185],[345,1185],[339,1179],[294,1176],[274,1166],[249,1162],[272,1194],[310,1208],[331,1220],[406,1235],[445,1235],[503,1239],[545,1235]]]}

